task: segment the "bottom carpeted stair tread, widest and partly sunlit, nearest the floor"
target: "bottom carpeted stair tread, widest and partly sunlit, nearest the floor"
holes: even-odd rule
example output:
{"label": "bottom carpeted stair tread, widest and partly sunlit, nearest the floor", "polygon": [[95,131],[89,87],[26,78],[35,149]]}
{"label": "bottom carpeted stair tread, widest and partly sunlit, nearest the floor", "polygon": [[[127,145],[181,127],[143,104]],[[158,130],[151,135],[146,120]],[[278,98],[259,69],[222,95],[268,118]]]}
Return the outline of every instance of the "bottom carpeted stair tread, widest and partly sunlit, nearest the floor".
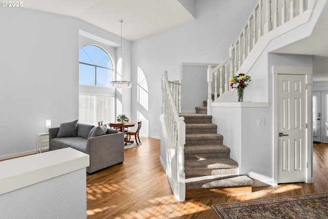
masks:
{"label": "bottom carpeted stair tread, widest and partly sunlit, nearest the floor", "polygon": [[186,178],[186,189],[252,186],[253,180],[245,175],[210,175]]}

